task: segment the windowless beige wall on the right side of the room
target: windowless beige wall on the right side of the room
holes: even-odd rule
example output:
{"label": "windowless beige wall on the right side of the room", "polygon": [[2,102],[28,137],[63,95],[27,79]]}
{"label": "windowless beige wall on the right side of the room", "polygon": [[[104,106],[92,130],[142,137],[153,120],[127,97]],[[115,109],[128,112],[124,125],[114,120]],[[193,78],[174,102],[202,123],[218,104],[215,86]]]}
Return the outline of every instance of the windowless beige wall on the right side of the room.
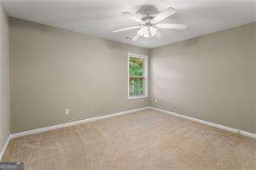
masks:
{"label": "windowless beige wall on the right side of the room", "polygon": [[256,133],[255,31],[253,23],[150,50],[151,104]]}

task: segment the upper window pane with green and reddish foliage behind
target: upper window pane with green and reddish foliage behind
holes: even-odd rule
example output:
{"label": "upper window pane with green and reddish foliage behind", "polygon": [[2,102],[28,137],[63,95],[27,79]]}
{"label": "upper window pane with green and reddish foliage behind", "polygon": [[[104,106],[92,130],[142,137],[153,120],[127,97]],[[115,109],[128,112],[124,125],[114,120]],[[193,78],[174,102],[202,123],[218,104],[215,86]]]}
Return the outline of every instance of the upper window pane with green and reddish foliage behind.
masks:
{"label": "upper window pane with green and reddish foliage behind", "polygon": [[144,59],[130,57],[130,76],[144,76]]}

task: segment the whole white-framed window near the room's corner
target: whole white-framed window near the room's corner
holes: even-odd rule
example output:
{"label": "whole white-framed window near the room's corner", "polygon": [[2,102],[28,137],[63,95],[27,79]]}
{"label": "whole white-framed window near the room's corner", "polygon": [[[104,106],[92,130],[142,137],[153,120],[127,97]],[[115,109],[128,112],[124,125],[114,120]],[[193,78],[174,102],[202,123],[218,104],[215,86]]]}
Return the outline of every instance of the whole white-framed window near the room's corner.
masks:
{"label": "whole white-framed window near the room's corner", "polygon": [[148,57],[128,54],[128,99],[148,97]]}

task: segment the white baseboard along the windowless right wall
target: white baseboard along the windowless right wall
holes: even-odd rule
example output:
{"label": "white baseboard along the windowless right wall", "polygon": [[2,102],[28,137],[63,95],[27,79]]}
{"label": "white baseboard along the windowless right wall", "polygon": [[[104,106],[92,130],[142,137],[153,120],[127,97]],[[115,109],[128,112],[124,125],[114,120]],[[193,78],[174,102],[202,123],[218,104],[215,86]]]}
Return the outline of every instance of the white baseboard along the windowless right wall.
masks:
{"label": "white baseboard along the windowless right wall", "polygon": [[243,131],[243,130],[240,130],[240,129],[234,129],[234,128],[230,128],[230,127],[227,127],[227,126],[223,126],[221,124],[210,123],[210,122],[203,121],[201,119],[197,119],[197,118],[194,118],[194,117],[191,117],[191,116],[184,116],[184,115],[181,115],[181,114],[178,114],[178,113],[174,113],[174,112],[171,112],[171,111],[168,111],[168,110],[158,109],[156,107],[149,107],[149,109],[161,111],[161,112],[164,112],[164,113],[168,113],[168,114],[170,114],[172,116],[179,116],[179,117],[182,117],[182,118],[185,118],[185,119],[189,119],[191,121],[195,121],[197,123],[206,124],[206,125],[218,128],[218,129],[224,129],[224,130],[227,130],[227,131],[230,131],[230,132],[234,132],[234,133],[237,133],[237,134],[240,134],[240,135],[246,135],[246,136],[249,136],[249,137],[256,138],[256,134],[253,134],[253,133],[250,133],[250,132],[246,132],[246,131]]}

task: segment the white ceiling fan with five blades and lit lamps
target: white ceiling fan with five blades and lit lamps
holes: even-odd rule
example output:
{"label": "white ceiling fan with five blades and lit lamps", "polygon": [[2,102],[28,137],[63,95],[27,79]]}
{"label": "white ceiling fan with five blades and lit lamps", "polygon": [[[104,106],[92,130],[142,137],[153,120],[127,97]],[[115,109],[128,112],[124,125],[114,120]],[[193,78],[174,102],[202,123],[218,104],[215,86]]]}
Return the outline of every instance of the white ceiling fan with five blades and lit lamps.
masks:
{"label": "white ceiling fan with five blades and lit lamps", "polygon": [[187,25],[185,24],[177,24],[177,23],[159,23],[163,19],[175,14],[177,9],[172,7],[165,9],[163,12],[158,13],[157,15],[150,15],[150,9],[145,9],[145,14],[142,18],[138,16],[134,16],[129,12],[122,12],[123,15],[129,16],[132,20],[139,23],[138,26],[129,27],[129,28],[120,28],[112,31],[113,33],[118,33],[121,31],[126,31],[130,29],[139,28],[137,31],[137,35],[135,35],[131,41],[137,41],[139,37],[149,38],[149,37],[157,37],[160,39],[162,35],[158,31],[158,28],[170,28],[170,29],[185,29]]}

